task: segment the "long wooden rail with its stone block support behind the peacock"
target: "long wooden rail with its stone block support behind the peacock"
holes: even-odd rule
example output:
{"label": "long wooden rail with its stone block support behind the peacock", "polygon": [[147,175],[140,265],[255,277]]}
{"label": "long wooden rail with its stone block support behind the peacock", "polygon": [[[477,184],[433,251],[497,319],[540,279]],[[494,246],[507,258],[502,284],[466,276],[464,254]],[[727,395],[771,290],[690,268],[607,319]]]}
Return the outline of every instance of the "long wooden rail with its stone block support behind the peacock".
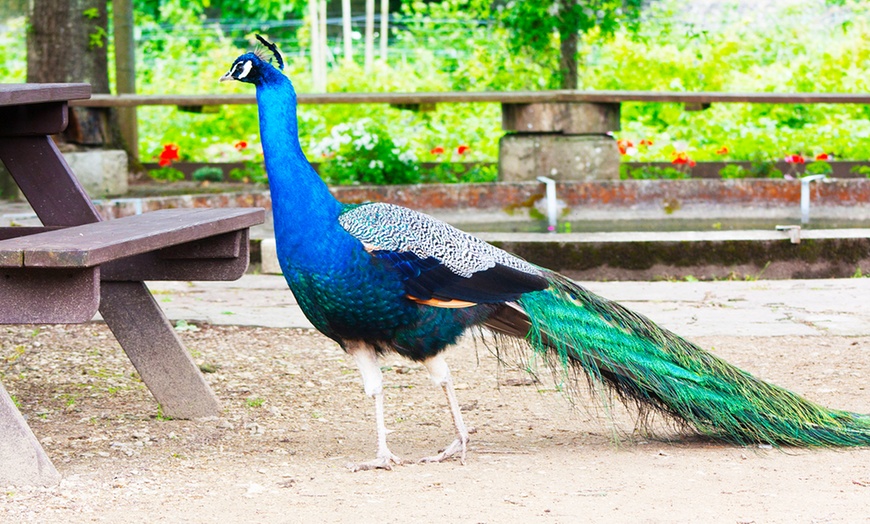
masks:
{"label": "long wooden rail with its stone block support behind the peacock", "polygon": [[[563,180],[618,177],[620,157],[606,133],[619,131],[623,102],[680,103],[701,111],[714,103],[870,104],[870,93],[678,93],[651,91],[448,91],[428,93],[302,93],[300,104],[389,104],[431,110],[441,103],[499,103],[502,180],[534,180],[547,174]],[[201,112],[205,106],[255,104],[253,94],[94,95],[76,100],[88,107],[177,106]],[[513,133],[511,133],[513,132]],[[555,138],[555,137],[560,138]],[[128,143],[136,143],[135,126]],[[135,148],[134,148],[135,151]],[[579,162],[577,159],[584,159]],[[573,160],[572,160],[573,159]]]}

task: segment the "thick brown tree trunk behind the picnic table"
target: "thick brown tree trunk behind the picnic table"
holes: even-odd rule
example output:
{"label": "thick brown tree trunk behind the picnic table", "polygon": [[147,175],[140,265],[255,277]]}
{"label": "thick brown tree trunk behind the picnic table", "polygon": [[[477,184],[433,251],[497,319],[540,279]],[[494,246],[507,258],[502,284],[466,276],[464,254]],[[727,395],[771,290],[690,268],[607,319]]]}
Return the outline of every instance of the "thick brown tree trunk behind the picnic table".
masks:
{"label": "thick brown tree trunk behind the picnic table", "polygon": [[[27,32],[28,82],[87,82],[94,93],[109,92],[106,49],[107,0],[32,0]],[[71,108],[67,141],[112,144],[108,113]]]}

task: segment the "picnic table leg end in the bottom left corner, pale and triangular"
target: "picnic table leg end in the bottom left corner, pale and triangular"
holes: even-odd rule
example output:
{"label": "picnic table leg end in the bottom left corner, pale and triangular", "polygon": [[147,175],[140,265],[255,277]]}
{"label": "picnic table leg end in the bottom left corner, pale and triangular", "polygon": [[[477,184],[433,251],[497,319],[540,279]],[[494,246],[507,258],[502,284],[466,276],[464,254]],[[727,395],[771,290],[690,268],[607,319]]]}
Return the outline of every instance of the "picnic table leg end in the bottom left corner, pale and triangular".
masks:
{"label": "picnic table leg end in the bottom left corner, pale and triangular", "polygon": [[60,473],[0,384],[0,486],[54,486]]}

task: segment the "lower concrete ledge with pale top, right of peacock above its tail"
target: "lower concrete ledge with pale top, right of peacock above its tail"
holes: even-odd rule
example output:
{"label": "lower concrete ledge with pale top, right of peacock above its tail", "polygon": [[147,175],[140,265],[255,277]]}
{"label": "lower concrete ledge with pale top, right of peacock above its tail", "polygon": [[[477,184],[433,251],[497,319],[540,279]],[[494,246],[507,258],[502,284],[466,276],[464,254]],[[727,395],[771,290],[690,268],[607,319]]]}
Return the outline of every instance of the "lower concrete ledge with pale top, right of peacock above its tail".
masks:
{"label": "lower concrete ledge with pale top, right of peacock above its tail", "polygon": [[480,234],[578,280],[843,278],[870,274],[870,229]]}

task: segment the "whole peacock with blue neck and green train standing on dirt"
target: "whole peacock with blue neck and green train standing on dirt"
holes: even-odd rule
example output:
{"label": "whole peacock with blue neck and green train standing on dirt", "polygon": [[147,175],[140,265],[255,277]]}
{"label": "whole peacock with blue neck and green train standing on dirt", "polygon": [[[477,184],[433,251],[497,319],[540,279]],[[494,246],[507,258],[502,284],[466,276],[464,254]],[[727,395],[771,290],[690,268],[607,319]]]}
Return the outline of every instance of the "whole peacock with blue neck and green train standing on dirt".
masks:
{"label": "whole peacock with blue neck and green train standing on dirt", "polygon": [[712,438],[870,444],[870,416],[827,409],[756,379],[556,272],[401,206],[339,202],[302,151],[281,54],[257,38],[265,49],[239,56],[221,81],[256,87],[280,266],[306,317],[353,358],[374,399],[377,455],[354,470],[401,463],[384,422],[379,357],[390,352],[421,363],[447,397],[455,439],[422,460],[458,455],[465,463],[469,429],[443,355],[471,328],[512,339],[529,355]]}

